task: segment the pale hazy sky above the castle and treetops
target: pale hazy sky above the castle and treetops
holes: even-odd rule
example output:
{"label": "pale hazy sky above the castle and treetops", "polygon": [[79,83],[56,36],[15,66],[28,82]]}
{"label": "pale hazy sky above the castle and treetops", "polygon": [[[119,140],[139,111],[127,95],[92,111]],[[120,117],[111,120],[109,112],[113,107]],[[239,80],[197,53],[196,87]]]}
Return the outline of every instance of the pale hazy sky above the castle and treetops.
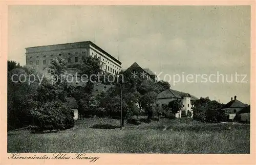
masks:
{"label": "pale hazy sky above the castle and treetops", "polygon": [[137,62],[175,90],[250,104],[250,6],[8,8],[8,60],[25,65],[27,47],[88,40],[122,69]]}

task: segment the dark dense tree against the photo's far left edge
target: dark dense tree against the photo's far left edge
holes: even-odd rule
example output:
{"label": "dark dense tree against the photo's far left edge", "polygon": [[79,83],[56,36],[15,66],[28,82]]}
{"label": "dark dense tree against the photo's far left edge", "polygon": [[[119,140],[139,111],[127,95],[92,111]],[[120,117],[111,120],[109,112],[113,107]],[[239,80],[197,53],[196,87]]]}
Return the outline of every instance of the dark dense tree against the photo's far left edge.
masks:
{"label": "dark dense tree against the photo's far left edge", "polygon": [[[9,66],[10,65],[8,65],[8,67]],[[30,72],[28,72],[29,70],[26,67],[17,66],[12,69],[8,68],[8,70],[10,71],[7,77],[7,120],[8,130],[12,130],[31,124],[32,121],[29,116],[29,109],[33,106],[31,100],[35,96],[38,85],[28,83],[28,75]],[[33,70],[33,73],[35,75],[38,74],[35,70]]]}

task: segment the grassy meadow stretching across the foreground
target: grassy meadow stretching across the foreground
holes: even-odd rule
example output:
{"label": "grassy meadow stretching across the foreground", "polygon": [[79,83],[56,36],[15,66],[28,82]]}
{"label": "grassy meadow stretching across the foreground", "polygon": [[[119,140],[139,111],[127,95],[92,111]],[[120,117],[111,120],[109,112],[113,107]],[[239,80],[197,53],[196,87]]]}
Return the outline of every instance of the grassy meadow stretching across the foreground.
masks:
{"label": "grassy meadow stretching across the foreground", "polygon": [[249,124],[160,119],[140,125],[84,119],[55,133],[8,132],[8,152],[19,153],[250,153]]}

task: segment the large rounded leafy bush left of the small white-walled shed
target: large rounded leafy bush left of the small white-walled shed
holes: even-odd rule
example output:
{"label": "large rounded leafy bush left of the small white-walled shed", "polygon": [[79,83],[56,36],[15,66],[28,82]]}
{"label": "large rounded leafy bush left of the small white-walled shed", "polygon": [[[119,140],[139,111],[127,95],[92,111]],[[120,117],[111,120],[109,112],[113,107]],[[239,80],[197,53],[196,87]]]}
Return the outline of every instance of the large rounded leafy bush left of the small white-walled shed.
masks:
{"label": "large rounded leafy bush left of the small white-walled shed", "polygon": [[46,102],[30,111],[37,130],[69,129],[74,126],[74,112],[62,102]]}

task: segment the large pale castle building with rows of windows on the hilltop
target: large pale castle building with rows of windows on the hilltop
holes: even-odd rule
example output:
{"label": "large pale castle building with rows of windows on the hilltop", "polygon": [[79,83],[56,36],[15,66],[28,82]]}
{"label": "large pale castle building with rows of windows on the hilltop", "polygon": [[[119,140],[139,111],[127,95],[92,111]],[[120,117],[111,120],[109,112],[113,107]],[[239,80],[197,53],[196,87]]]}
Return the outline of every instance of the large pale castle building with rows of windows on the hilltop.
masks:
{"label": "large pale castle building with rows of windows on the hilltop", "polygon": [[117,75],[121,62],[91,41],[64,43],[26,48],[26,65],[45,70],[56,57],[66,60],[67,65],[81,63],[85,56],[98,57],[104,73]]}

